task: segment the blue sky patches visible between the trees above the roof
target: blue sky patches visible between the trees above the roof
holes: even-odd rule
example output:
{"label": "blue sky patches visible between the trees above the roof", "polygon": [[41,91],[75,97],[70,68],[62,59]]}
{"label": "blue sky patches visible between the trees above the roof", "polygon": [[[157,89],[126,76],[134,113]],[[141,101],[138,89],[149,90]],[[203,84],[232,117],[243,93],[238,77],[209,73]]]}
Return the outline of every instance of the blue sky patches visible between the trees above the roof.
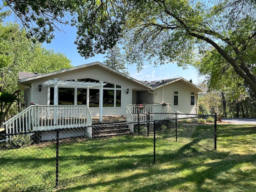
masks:
{"label": "blue sky patches visible between the trees above the roof", "polygon": [[[5,22],[14,22],[14,17],[8,17]],[[73,66],[78,66],[90,62],[103,62],[105,55],[96,55],[93,58],[85,60],[80,56],[76,49],[74,41],[76,39],[76,28],[71,26],[62,26],[64,32],[56,32],[55,39],[50,44],[44,44],[47,49],[52,49],[54,52],[60,52],[65,54],[72,62]],[[169,78],[183,77],[186,80],[192,79],[194,84],[198,84],[198,75],[193,67],[188,67],[184,70],[178,67],[177,64],[164,64],[154,67],[152,65],[145,64],[140,72],[137,72],[136,66],[128,66],[128,72],[130,76],[137,80],[153,81],[163,80]]]}

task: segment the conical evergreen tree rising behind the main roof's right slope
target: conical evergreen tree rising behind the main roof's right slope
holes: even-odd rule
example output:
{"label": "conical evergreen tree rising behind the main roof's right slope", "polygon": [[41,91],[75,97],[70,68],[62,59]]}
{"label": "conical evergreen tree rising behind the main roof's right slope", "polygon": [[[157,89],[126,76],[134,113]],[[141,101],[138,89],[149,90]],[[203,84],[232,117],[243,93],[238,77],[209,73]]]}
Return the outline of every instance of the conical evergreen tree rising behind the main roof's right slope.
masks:
{"label": "conical evergreen tree rising behind the main roof's right slope", "polygon": [[125,67],[124,56],[120,52],[120,48],[118,46],[114,46],[111,50],[107,52],[107,56],[105,56],[106,60],[103,64],[118,70],[126,75],[129,75],[127,68]]}

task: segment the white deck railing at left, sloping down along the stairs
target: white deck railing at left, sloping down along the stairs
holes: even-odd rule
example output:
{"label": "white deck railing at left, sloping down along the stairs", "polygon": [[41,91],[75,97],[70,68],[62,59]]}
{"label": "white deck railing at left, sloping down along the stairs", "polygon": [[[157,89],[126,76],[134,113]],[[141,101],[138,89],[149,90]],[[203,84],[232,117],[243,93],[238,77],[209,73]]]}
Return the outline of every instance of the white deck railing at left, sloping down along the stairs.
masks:
{"label": "white deck railing at left, sloping down along the stairs", "polygon": [[3,125],[6,134],[85,127],[92,125],[92,116],[87,105],[31,105]]}

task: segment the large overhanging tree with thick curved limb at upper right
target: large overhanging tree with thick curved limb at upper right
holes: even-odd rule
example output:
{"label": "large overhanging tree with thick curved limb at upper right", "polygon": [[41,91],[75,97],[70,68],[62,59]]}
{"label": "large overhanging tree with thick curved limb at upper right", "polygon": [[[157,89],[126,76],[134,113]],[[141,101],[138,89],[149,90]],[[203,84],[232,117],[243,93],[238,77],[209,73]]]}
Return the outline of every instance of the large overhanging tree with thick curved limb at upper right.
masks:
{"label": "large overhanging tree with thick curved limb at upper right", "polygon": [[[16,15],[36,16],[50,13],[63,18],[73,11],[78,29],[78,52],[88,58],[105,53],[123,39],[129,61],[139,68],[145,58],[155,64],[177,62],[180,66],[197,64],[206,52],[215,51],[256,94],[255,76],[255,1],[220,0],[129,0],[129,1],[30,1],[6,0]],[[46,4],[46,7],[42,3]],[[45,3],[47,2],[47,3]],[[38,6],[40,5],[40,9]],[[56,6],[55,6],[56,5]],[[238,6],[239,5],[239,6]],[[42,8],[41,8],[42,7]],[[244,13],[244,14],[241,14]],[[34,17],[33,17],[34,16]],[[50,15],[52,16],[52,15]],[[37,20],[40,18],[40,20]],[[47,18],[47,16],[46,16]],[[54,20],[54,17],[50,19]],[[38,16],[39,27],[48,24]],[[55,20],[56,21],[56,20]],[[58,20],[57,20],[58,21]],[[54,26],[50,23],[50,26]],[[50,28],[50,27],[49,27]],[[50,28],[52,30],[52,28]],[[40,31],[40,30],[37,30]],[[43,33],[46,34],[47,33]]]}

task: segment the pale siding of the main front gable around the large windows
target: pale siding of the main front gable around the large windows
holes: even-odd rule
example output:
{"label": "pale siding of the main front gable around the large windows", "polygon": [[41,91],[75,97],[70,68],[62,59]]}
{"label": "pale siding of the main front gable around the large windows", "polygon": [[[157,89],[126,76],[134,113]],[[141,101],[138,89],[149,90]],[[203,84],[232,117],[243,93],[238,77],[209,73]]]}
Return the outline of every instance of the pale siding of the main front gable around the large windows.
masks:
{"label": "pale siding of the main front gable around the large windows", "polygon": [[[78,70],[72,70],[64,73],[58,73],[52,76],[47,76],[37,80],[31,80],[32,102],[39,105],[47,105],[47,86],[43,83],[47,80],[74,80],[82,78],[91,78],[95,80],[102,80],[104,82],[120,85],[122,88],[121,107],[116,108],[103,108],[103,115],[125,115],[126,105],[132,104],[132,90],[145,89],[144,86],[136,84],[134,81],[124,78],[106,68],[99,67],[97,65],[80,68]],[[26,82],[28,83],[28,82]],[[38,85],[42,85],[41,92],[38,91]],[[129,93],[126,94],[126,90],[129,89]],[[90,108],[92,116],[98,116],[100,114],[100,108]]]}

